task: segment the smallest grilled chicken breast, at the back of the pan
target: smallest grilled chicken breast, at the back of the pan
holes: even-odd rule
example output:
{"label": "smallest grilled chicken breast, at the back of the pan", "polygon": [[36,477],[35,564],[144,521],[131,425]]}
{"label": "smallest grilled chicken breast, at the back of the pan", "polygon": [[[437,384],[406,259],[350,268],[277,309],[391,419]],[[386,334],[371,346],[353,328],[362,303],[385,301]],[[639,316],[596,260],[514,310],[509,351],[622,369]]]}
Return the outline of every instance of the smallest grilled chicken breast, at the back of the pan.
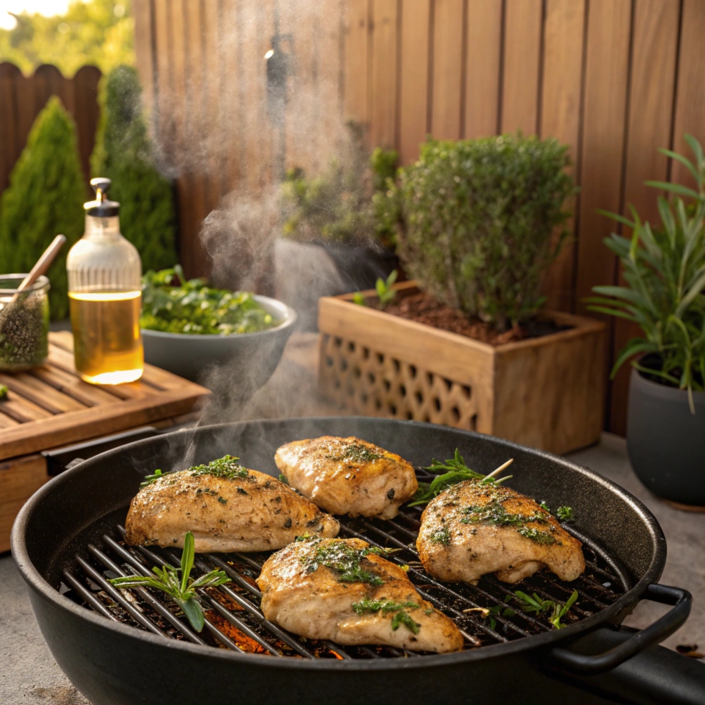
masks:
{"label": "smallest grilled chicken breast, at the back of the pan", "polygon": [[391,519],[418,488],[406,460],[354,436],[286,443],[274,460],[292,487],[331,514]]}

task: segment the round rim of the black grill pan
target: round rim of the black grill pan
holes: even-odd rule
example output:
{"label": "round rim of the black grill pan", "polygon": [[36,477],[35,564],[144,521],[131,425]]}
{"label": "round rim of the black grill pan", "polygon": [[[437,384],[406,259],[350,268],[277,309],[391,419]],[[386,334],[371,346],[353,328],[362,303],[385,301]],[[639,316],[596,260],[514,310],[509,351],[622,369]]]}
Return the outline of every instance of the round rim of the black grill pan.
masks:
{"label": "round rim of the black grill pan", "polygon": [[[369,422],[368,417],[345,417],[349,419],[351,424],[360,421]],[[540,648],[541,646],[555,645],[558,642],[565,642],[570,637],[575,637],[582,632],[590,630],[598,625],[604,625],[609,623],[611,618],[618,615],[625,608],[630,606],[636,606],[639,599],[641,599],[646,587],[651,583],[658,582],[659,577],[661,577],[661,572],[663,571],[663,565],[666,563],[666,537],[663,535],[661,526],[658,524],[656,517],[651,514],[648,508],[639,501],[635,496],[630,494],[618,484],[611,482],[611,480],[603,477],[601,474],[590,470],[587,467],[579,465],[565,458],[561,458],[559,455],[554,455],[553,453],[547,453],[544,450],[537,450],[535,448],[528,448],[527,446],[521,446],[518,443],[513,443],[512,441],[505,441],[504,439],[497,439],[494,436],[487,436],[486,434],[480,434],[475,431],[464,431],[462,429],[453,429],[453,431],[459,435],[465,436],[469,439],[476,439],[479,441],[491,438],[493,443],[498,446],[504,446],[507,450],[521,450],[522,452],[527,452],[536,455],[540,458],[546,460],[551,460],[552,462],[558,462],[564,467],[569,467],[572,472],[579,472],[580,474],[586,475],[591,479],[591,481],[605,486],[607,489],[617,494],[623,501],[625,501],[632,510],[635,510],[642,522],[648,529],[649,537],[652,541],[653,553],[651,556],[651,561],[649,562],[648,568],[644,571],[644,575],[632,586],[630,590],[625,592],[610,606],[604,608],[603,610],[594,613],[587,618],[584,618],[578,622],[572,623],[567,627],[563,627],[560,630],[553,630],[551,632],[543,632],[538,635],[532,635],[530,637],[524,637],[522,639],[516,639],[513,641],[505,642],[503,644],[487,644],[486,646],[480,646],[475,649],[466,649],[464,651],[458,651],[453,654],[433,654],[429,656],[423,656],[422,658],[379,658],[379,659],[329,659],[329,658],[270,658],[262,654],[238,654],[231,650],[226,649],[214,649],[213,646],[201,646],[200,644],[191,644],[185,640],[170,639],[168,642],[157,635],[152,635],[149,632],[137,629],[130,625],[125,625],[119,622],[113,622],[108,620],[101,615],[94,613],[90,609],[80,606],[67,596],[61,595],[59,591],[53,587],[44,576],[35,568],[35,565],[30,559],[27,548],[25,546],[25,532],[27,529],[27,524],[30,520],[33,510],[39,504],[44,496],[54,491],[54,488],[61,483],[71,482],[74,474],[78,474],[85,469],[87,464],[97,464],[100,462],[109,461],[118,455],[122,455],[125,451],[133,448],[140,448],[142,446],[149,446],[157,440],[168,439],[169,436],[182,436],[183,434],[191,434],[196,436],[198,434],[208,434],[219,431],[219,429],[238,429],[245,428],[248,426],[265,427],[269,424],[271,425],[281,425],[282,423],[290,422],[295,424],[300,423],[310,423],[310,424],[326,424],[326,422],[340,422],[341,417],[298,417],[292,419],[258,419],[252,421],[234,422],[234,423],[222,423],[222,424],[211,424],[209,426],[198,427],[197,429],[184,429],[180,431],[173,431],[170,434],[161,434],[160,436],[155,436],[149,439],[142,439],[140,441],[134,441],[133,443],[128,443],[125,446],[119,448],[114,448],[113,450],[107,450],[104,453],[78,463],[70,470],[62,472],[59,476],[51,479],[47,484],[42,486],[32,497],[25,503],[23,508],[20,510],[18,517],[13,525],[11,534],[11,550],[13,559],[20,571],[20,575],[24,578],[25,582],[32,588],[32,590],[40,598],[48,601],[56,608],[61,611],[66,611],[78,618],[81,621],[89,623],[92,627],[97,627],[100,630],[106,632],[116,631],[124,637],[133,637],[139,639],[146,644],[151,644],[153,646],[167,646],[171,649],[183,649],[186,652],[192,654],[197,654],[203,656],[204,654],[209,654],[212,658],[218,658],[219,660],[224,660],[233,663],[233,665],[238,666],[257,666],[260,668],[295,668],[295,669],[305,669],[312,671],[335,671],[335,670],[345,670],[345,671],[364,671],[364,670],[389,670],[394,671],[398,668],[433,668],[434,666],[451,666],[458,665],[462,663],[468,663],[471,661],[482,661],[486,658],[498,658],[500,656],[509,656],[511,654],[518,654],[522,651],[527,651],[534,648]],[[429,424],[424,422],[415,421],[403,421],[398,419],[374,419],[375,422],[379,424],[391,424],[393,426],[413,426],[416,428],[424,427],[431,431],[439,430],[436,424]],[[447,429],[446,429],[447,430]],[[204,651],[205,650],[205,651]]]}

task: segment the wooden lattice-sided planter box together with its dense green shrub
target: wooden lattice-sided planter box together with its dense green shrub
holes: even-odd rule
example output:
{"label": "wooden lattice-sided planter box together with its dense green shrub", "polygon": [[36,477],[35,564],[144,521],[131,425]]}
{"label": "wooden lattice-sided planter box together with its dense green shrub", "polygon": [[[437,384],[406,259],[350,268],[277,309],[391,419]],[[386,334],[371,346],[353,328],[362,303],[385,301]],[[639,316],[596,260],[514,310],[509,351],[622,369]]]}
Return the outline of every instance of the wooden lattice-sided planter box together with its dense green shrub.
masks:
{"label": "wooden lattice-sided planter box together with its dense green shrub", "polygon": [[541,309],[575,191],[566,166],[556,140],[518,133],[422,145],[375,199],[415,281],[393,299],[391,281],[321,299],[324,394],[556,453],[599,439],[605,326]]}

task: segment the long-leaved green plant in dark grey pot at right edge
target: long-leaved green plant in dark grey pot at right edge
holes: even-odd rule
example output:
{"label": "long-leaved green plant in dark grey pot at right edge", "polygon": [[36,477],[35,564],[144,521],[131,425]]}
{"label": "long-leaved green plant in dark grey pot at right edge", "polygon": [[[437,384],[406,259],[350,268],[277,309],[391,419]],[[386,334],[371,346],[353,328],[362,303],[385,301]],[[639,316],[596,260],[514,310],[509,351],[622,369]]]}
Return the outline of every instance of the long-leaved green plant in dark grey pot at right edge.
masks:
{"label": "long-leaved green plant in dark grey pot at right edge", "polygon": [[[637,476],[654,494],[687,507],[705,506],[705,157],[685,135],[695,162],[661,149],[693,176],[696,188],[647,181],[673,195],[658,197],[661,224],[611,214],[631,228],[605,244],[620,259],[626,286],[596,286],[594,311],[632,321],[642,336],[620,353],[612,376],[632,360],[627,450]],[[685,200],[684,198],[685,197]],[[607,214],[610,215],[610,214]]]}

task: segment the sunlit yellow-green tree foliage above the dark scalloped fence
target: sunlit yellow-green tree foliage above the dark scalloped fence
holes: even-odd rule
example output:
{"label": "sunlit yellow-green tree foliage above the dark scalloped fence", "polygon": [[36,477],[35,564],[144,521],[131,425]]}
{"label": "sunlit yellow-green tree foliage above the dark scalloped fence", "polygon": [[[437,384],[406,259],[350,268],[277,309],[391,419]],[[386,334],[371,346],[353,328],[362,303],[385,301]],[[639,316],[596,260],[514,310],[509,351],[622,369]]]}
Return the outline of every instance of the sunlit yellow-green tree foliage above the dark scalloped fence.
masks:
{"label": "sunlit yellow-green tree foliage above the dark scalloped fence", "polygon": [[118,64],[135,63],[131,0],[71,3],[65,15],[16,15],[13,30],[0,30],[0,61],[30,75],[52,63],[71,77],[85,64],[107,73]]}

